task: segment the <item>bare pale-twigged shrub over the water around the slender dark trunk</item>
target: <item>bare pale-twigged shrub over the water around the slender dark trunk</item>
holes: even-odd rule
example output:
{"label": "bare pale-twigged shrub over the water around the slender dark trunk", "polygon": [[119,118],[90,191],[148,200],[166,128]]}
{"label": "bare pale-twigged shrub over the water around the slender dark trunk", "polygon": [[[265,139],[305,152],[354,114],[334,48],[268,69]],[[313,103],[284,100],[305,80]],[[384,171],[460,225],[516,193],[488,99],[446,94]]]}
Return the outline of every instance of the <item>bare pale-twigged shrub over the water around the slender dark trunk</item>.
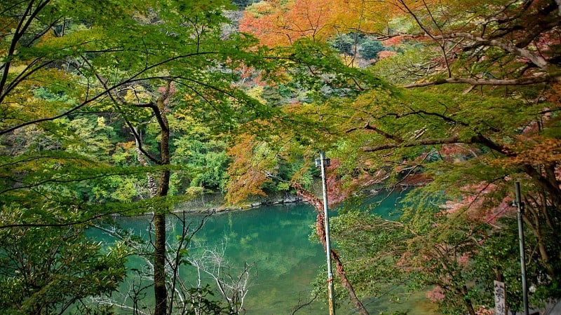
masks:
{"label": "bare pale-twigged shrub over the water around the slender dark trunk", "polygon": [[[171,314],[240,314],[252,278],[252,264],[238,267],[224,257],[227,243],[209,247],[194,241],[213,212],[194,221],[187,212],[173,213],[168,221],[165,241],[165,283]],[[151,314],[147,291],[154,281],[154,221],[145,231],[123,230],[115,225],[97,225],[112,239],[129,244],[137,258],[144,261],[124,281],[124,290],[113,295],[90,298],[92,304],[114,306],[134,314]],[[189,276],[185,276],[189,274]],[[192,276],[191,276],[192,275]],[[211,283],[206,283],[210,279]],[[172,313],[173,311],[173,313]]]}

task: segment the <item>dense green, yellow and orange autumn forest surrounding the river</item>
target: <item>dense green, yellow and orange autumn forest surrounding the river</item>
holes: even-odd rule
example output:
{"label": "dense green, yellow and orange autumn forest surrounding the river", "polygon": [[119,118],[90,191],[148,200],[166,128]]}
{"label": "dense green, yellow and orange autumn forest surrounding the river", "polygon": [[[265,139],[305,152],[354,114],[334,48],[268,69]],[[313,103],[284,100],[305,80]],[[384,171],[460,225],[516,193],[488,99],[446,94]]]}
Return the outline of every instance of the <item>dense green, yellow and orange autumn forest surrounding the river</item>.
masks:
{"label": "dense green, yellow and orange autumn forest surrounding the river", "polygon": [[[502,281],[522,310],[523,204],[543,307],[561,297],[560,110],[559,0],[1,1],[0,313],[243,313],[238,288],[184,285],[197,228],[174,210],[288,192],[320,223],[320,151],[344,202],[338,300],[367,314],[403,283],[489,314]],[[393,219],[355,202],[372,187],[404,189]],[[149,241],[112,221],[147,213]],[[133,256],[151,284],[126,304]]]}

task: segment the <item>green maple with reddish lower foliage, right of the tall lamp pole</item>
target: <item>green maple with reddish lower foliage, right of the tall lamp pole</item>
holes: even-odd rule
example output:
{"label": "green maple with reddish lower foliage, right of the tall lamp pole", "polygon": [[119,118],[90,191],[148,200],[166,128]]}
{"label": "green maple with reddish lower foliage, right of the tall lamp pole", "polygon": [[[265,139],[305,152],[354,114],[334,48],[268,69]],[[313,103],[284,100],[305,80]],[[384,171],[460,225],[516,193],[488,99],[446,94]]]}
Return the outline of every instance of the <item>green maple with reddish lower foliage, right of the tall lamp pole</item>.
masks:
{"label": "green maple with reddish lower foliage, right of the tall lamp pole", "polygon": [[[553,237],[556,234],[553,231],[559,227],[550,222],[550,218],[557,216],[558,209],[555,196],[558,194],[559,178],[555,175],[558,173],[555,169],[558,168],[556,148],[559,140],[554,136],[548,141],[543,141],[543,137],[538,134],[555,133],[558,128],[557,121],[550,121],[538,116],[541,117],[543,123],[539,130],[533,132],[527,130],[525,133],[520,133],[520,126],[532,125],[536,118],[535,113],[542,111],[544,106],[550,108],[549,106],[553,104],[520,104],[519,99],[508,100],[502,97],[495,99],[488,95],[458,97],[457,94],[452,94],[448,98],[445,96],[446,94],[443,94],[443,89],[438,90],[438,97],[435,98],[437,95],[435,92],[437,91],[403,90],[399,92],[400,94],[369,92],[353,99],[352,103],[344,103],[344,106],[339,106],[337,116],[330,116],[332,109],[330,106],[326,106],[325,111],[320,112],[320,117],[324,120],[330,117],[332,125],[337,126],[337,129],[341,131],[342,139],[334,141],[334,149],[330,153],[332,156],[346,161],[340,172],[342,174],[360,174],[361,172],[375,174],[383,170],[386,174],[384,177],[386,185],[389,186],[400,183],[416,185],[424,183],[423,188],[420,189],[426,193],[420,194],[417,190],[410,193],[413,196],[418,195],[417,199],[412,198],[410,201],[414,205],[410,208],[414,215],[409,217],[404,215],[405,222],[399,224],[387,223],[388,226],[405,225],[410,229],[401,230],[404,233],[402,237],[415,231],[410,236],[411,241],[422,237],[422,241],[418,243],[421,246],[418,249],[421,253],[419,253],[417,267],[424,272],[428,272],[425,267],[428,262],[424,260],[424,257],[433,257],[433,261],[437,263],[445,260],[455,262],[462,255],[459,251],[445,251],[444,253],[435,251],[433,253],[438,253],[438,255],[428,255],[438,246],[444,246],[442,249],[463,248],[462,250],[466,251],[467,255],[473,255],[480,251],[481,247],[481,244],[475,240],[492,239],[493,233],[488,235],[487,229],[506,228],[506,225],[495,224],[496,217],[508,217],[512,220],[513,208],[510,208],[511,211],[504,211],[499,205],[505,203],[504,197],[512,195],[513,177],[523,181],[527,189],[525,191],[528,198],[527,204],[532,208],[527,213],[525,223],[536,237],[536,248],[539,248],[539,268],[541,268],[541,272],[549,274],[550,288],[555,288],[558,280],[555,279],[557,272],[554,271],[553,266],[557,265],[557,262],[554,262],[556,258],[553,256],[556,255],[559,248],[555,245],[558,242]],[[499,102],[501,107],[497,108],[496,104]],[[434,104],[438,104],[438,106]],[[375,113],[375,115],[373,116],[371,113]],[[505,120],[507,115],[509,119]],[[535,135],[533,135],[534,132]],[[533,137],[537,137],[539,140],[530,141],[529,139]],[[537,144],[538,141],[541,144]],[[349,145],[349,142],[352,145]],[[525,157],[522,158],[523,155],[529,153],[522,149],[525,146],[532,151],[534,158],[537,156],[540,158],[532,159],[532,162],[526,160]],[[546,146],[548,149],[539,149],[541,146]],[[514,147],[517,147],[516,151],[508,149]],[[550,167],[549,172],[546,171],[548,167]],[[538,169],[543,169],[543,171],[537,172]],[[546,181],[553,181],[554,184],[546,184]],[[482,188],[474,185],[481,183]],[[466,185],[473,186],[462,190]],[[491,189],[491,186],[494,188]],[[489,191],[492,193],[489,194]],[[431,195],[435,200],[426,203]],[[435,207],[435,204],[438,204],[438,196],[445,196],[450,200],[463,200],[461,204],[454,206],[456,209],[462,210],[457,214],[443,212],[442,208]],[[547,207],[546,204],[550,206]],[[342,216],[342,220],[343,218],[344,216]],[[434,225],[434,222],[442,221],[442,230],[451,231],[452,239],[444,238],[440,224],[437,225],[439,228],[436,230],[419,230],[422,227],[424,227],[422,229],[426,229],[426,225],[419,226],[423,222],[419,220],[428,220],[424,224],[429,226]],[[462,223],[473,226],[465,232],[469,236],[465,239],[468,244],[462,244],[461,239],[457,238],[463,231],[460,228]],[[384,225],[383,222],[375,224]],[[485,225],[487,228],[482,228]],[[360,229],[356,223],[348,223],[344,226],[350,230]],[[370,231],[370,228],[367,231]],[[472,233],[475,231],[481,231],[482,235],[474,237]],[[346,237],[355,239],[352,233],[346,234],[344,231],[342,233]],[[448,243],[449,241],[452,243]],[[435,246],[432,249],[431,244]],[[412,251],[411,245],[401,249],[406,252]],[[342,252],[352,252],[352,248],[346,246],[342,246],[342,248],[344,248]],[[353,257],[352,255],[355,254],[351,254],[351,257]],[[510,259],[514,259],[514,257],[511,256]],[[353,261],[353,258],[349,260]],[[407,256],[407,260],[414,262],[411,256]],[[466,265],[466,267],[468,266],[471,265]],[[442,275],[446,274],[442,269],[435,269],[435,274],[438,274],[437,270],[440,270]],[[534,276],[539,277],[539,272]],[[428,284],[438,284],[443,288],[450,286],[450,283],[446,283],[447,286],[444,285],[445,283],[428,282]],[[542,288],[545,287],[542,286]],[[459,297],[468,296],[467,291],[456,288],[446,290],[446,292],[447,297],[450,298],[447,301],[457,300],[457,295]],[[556,295],[557,293],[553,290],[550,291],[550,294]],[[468,309],[474,308],[471,302],[466,303],[465,306]]]}

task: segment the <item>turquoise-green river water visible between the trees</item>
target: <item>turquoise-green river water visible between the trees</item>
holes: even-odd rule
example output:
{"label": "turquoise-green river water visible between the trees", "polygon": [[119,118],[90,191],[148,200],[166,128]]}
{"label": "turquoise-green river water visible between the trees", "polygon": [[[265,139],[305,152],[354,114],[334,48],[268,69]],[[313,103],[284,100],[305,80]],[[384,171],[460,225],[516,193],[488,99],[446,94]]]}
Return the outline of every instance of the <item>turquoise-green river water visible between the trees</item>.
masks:
{"label": "turquoise-green river water visible between the trees", "polygon": [[[391,196],[383,200],[374,211],[381,214],[391,212],[396,202]],[[193,224],[200,222],[201,215],[189,214]],[[149,216],[119,218],[118,223],[126,229],[147,235]],[[225,248],[224,259],[235,270],[246,263],[255,264],[251,269],[250,286],[245,297],[246,314],[291,314],[297,304],[310,297],[313,281],[324,279],[325,253],[323,247],[309,236],[314,232],[311,225],[316,221],[316,212],[309,204],[278,205],[244,211],[214,214],[203,228],[191,239],[189,255],[202,255],[201,248]],[[173,239],[180,233],[180,226],[170,230]],[[140,260],[131,260],[130,268],[137,268]],[[140,266],[138,266],[140,267]],[[191,266],[181,276],[196,285],[195,268]],[[191,269],[191,270],[189,270]],[[210,279],[207,279],[210,280]],[[211,283],[213,284],[213,283]],[[436,314],[424,295],[414,295],[405,304],[397,305],[384,298],[366,300],[370,314],[392,314],[394,311],[410,311],[410,314]],[[299,309],[296,314],[326,314],[324,302],[317,300]],[[354,309],[343,303],[338,314],[355,314]]]}

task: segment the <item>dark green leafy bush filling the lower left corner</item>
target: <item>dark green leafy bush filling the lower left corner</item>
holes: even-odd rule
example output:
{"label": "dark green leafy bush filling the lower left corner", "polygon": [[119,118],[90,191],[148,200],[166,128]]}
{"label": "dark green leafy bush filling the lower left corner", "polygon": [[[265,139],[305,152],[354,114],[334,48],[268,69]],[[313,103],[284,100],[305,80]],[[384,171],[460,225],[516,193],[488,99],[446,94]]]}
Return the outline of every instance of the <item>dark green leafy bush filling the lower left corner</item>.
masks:
{"label": "dark green leafy bush filling the lower left corner", "polygon": [[[84,237],[85,224],[22,226],[29,209],[3,209],[0,310],[3,314],[66,314],[88,297],[111,293],[126,276],[130,251],[105,249]],[[19,226],[18,226],[19,225]]]}

